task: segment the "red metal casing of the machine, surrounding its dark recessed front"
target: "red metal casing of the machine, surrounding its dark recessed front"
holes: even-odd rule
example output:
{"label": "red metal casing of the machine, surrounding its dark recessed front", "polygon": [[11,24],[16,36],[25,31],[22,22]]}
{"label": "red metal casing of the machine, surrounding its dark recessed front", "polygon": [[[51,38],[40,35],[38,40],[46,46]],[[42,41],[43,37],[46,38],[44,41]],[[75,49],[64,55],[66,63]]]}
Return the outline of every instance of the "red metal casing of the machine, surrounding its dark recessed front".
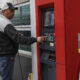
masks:
{"label": "red metal casing of the machine, surrounding its dark recessed front", "polygon": [[[78,33],[80,33],[80,0],[35,0],[37,36],[41,29],[41,9],[54,7],[56,36],[56,80],[78,80],[80,54]],[[39,44],[38,80],[40,76]]]}

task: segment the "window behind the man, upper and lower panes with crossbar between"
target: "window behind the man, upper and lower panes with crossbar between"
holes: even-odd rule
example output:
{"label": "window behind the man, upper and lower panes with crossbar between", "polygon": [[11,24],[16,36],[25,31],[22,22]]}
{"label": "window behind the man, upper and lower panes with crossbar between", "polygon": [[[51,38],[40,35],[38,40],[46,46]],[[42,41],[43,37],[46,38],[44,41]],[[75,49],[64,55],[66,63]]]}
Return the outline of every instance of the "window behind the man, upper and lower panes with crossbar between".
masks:
{"label": "window behind the man, upper and lower panes with crossbar between", "polygon": [[[17,5],[18,10],[15,10],[15,16],[11,20],[15,27],[17,27],[18,32],[22,33],[24,36],[30,37],[31,31],[26,28],[30,28],[30,3]],[[25,30],[25,29],[26,30]],[[22,45],[19,46],[20,50],[31,52],[31,45]]]}

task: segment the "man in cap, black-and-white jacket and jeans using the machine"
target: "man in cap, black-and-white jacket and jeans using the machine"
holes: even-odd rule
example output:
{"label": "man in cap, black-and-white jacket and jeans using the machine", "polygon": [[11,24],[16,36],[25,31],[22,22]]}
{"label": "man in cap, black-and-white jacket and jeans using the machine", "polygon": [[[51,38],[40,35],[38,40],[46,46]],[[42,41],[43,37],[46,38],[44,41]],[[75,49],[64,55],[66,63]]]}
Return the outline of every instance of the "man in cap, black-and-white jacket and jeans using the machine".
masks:
{"label": "man in cap, black-and-white jacket and jeans using the machine", "polygon": [[43,42],[46,37],[25,37],[17,32],[11,23],[15,8],[12,3],[6,3],[1,7],[0,15],[0,62],[2,80],[12,80],[15,55],[20,44],[32,44]]}

